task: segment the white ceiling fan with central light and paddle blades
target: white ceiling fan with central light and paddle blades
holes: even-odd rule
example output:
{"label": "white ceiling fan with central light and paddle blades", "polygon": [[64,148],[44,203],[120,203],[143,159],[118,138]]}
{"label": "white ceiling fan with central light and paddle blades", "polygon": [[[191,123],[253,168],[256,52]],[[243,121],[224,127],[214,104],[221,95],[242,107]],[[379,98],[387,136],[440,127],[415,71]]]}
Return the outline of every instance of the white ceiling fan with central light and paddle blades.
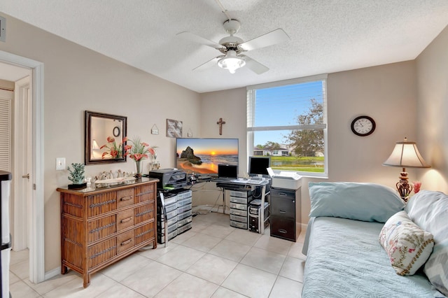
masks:
{"label": "white ceiling fan with central light and paddle blades", "polygon": [[[226,10],[223,10],[223,13],[225,12]],[[226,15],[228,14],[226,13]],[[223,27],[225,31],[230,34],[230,36],[222,38],[218,43],[188,31],[183,31],[177,34],[177,36],[188,41],[194,41],[195,43],[216,48],[216,50],[219,50],[223,54],[218,57],[214,57],[200,66],[197,66],[193,70],[203,69],[210,64],[217,62],[218,66],[223,69],[228,69],[230,73],[235,73],[237,69],[246,66],[248,69],[251,69],[251,71],[261,74],[268,71],[269,68],[260,62],[255,61],[251,57],[242,55],[242,53],[258,48],[265,48],[269,45],[275,45],[276,43],[282,43],[290,39],[288,34],[286,34],[283,29],[279,28],[274,31],[270,31],[267,34],[253,38],[250,41],[244,42],[241,38],[234,35],[238,32],[239,28],[241,28],[240,22],[230,17],[228,17],[228,20],[224,22]]]}

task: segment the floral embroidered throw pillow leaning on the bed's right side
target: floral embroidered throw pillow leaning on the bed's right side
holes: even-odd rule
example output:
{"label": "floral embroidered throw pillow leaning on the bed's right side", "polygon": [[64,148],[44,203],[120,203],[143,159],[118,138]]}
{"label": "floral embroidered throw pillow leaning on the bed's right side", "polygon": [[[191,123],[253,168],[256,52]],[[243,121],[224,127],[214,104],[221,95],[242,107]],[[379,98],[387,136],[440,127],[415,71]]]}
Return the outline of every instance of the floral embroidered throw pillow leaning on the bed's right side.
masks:
{"label": "floral embroidered throw pillow leaning on the bed's right side", "polygon": [[379,233],[379,243],[386,250],[396,273],[413,275],[433,251],[433,234],[423,231],[406,211],[392,215]]}

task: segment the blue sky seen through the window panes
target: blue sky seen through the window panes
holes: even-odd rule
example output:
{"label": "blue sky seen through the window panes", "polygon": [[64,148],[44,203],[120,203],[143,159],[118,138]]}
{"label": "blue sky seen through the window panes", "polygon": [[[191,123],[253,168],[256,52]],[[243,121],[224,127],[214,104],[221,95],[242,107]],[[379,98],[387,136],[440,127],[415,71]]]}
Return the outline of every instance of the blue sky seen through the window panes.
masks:
{"label": "blue sky seen through the window panes", "polygon": [[[256,91],[255,126],[295,125],[309,111],[311,99],[322,100],[322,81],[272,87]],[[285,108],[286,107],[286,108]],[[255,132],[254,145],[284,143],[285,131]]]}

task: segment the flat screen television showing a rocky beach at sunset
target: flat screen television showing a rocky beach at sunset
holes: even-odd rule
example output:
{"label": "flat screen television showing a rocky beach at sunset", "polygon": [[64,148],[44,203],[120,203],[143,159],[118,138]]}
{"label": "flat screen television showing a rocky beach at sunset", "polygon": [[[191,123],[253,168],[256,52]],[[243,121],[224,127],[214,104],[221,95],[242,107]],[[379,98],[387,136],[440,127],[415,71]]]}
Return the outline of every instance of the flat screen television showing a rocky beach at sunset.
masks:
{"label": "flat screen television showing a rocky beach at sunset", "polygon": [[176,139],[177,169],[216,176],[218,164],[238,166],[238,139]]}

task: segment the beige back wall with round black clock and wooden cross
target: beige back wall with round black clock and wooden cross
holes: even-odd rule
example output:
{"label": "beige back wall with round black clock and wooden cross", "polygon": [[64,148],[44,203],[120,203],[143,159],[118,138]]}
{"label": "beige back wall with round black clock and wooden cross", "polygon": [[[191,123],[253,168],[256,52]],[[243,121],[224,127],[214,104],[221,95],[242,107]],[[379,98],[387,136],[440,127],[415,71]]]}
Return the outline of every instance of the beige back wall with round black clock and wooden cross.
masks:
{"label": "beige back wall with round black clock and wooden cross", "polygon": [[[325,180],[374,182],[394,187],[398,182],[400,169],[381,164],[391,154],[396,141],[402,141],[405,136],[409,139],[416,138],[415,122],[409,121],[414,118],[416,111],[415,86],[415,62],[328,75],[329,162],[328,179]],[[202,135],[216,136],[216,121],[223,117],[229,124],[224,126],[223,136],[240,139],[239,173],[244,173],[247,171],[246,90],[210,92],[202,94],[202,99]],[[370,115],[374,118],[377,123],[374,134],[360,137],[351,132],[351,120],[358,115]],[[241,146],[243,144],[244,147]],[[409,169],[409,176],[413,176],[412,169]],[[308,221],[310,208],[307,184],[309,181],[322,180],[324,179],[303,179],[304,224]],[[205,201],[202,203],[205,204]]]}

